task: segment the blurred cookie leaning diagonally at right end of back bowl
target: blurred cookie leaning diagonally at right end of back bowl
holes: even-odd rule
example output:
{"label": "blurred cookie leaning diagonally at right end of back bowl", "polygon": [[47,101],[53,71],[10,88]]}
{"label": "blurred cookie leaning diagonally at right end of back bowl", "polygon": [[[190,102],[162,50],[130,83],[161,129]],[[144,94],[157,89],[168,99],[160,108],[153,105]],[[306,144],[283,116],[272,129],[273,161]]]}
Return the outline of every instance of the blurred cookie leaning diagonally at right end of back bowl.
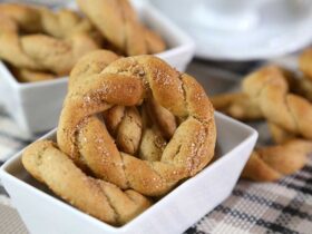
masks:
{"label": "blurred cookie leaning diagonally at right end of back bowl", "polygon": [[165,50],[162,38],[138,21],[128,0],[77,0],[77,3],[103,36],[124,55]]}

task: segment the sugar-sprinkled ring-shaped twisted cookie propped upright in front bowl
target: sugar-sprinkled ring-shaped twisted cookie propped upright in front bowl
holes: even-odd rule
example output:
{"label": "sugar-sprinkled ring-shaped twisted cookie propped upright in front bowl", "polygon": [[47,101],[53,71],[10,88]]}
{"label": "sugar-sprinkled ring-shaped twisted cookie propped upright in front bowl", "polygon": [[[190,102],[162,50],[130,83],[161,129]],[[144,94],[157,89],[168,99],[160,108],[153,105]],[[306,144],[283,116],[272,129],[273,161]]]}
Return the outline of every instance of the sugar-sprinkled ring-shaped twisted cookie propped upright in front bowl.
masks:
{"label": "sugar-sprinkled ring-shaped twisted cookie propped upright in front bowl", "polygon": [[[78,62],[70,75],[76,82],[69,87],[57,133],[58,146],[65,154],[97,177],[149,196],[167,193],[177,182],[207,165],[216,140],[214,110],[194,78],[153,56],[120,58],[107,67],[105,62],[91,60],[92,66]],[[123,148],[119,152],[107,130],[106,119],[103,121],[103,115],[99,116],[124,106],[123,116],[131,115],[131,119],[143,123],[137,108],[150,98],[159,105],[160,121],[166,123],[163,116],[170,113],[182,121],[159,162],[133,156],[140,140],[130,140],[127,147],[126,137],[124,143],[117,138],[117,146]],[[120,115],[118,108],[113,113]],[[140,138],[142,127],[135,124],[133,129]],[[164,136],[168,137],[168,133]]]}

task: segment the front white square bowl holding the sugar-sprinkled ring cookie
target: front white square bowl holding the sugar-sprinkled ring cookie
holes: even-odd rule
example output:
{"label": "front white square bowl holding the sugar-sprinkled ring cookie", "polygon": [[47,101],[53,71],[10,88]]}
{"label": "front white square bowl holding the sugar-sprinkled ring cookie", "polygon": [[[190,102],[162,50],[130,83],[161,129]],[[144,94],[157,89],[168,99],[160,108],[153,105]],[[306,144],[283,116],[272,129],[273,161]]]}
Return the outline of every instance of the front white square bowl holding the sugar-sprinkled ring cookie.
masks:
{"label": "front white square bowl holding the sugar-sprinkled ring cookie", "polygon": [[[114,227],[53,196],[21,164],[22,152],[0,168],[0,178],[32,234],[182,233],[232,192],[255,145],[257,133],[216,113],[217,159],[121,227]],[[55,139],[56,130],[43,138]]]}

